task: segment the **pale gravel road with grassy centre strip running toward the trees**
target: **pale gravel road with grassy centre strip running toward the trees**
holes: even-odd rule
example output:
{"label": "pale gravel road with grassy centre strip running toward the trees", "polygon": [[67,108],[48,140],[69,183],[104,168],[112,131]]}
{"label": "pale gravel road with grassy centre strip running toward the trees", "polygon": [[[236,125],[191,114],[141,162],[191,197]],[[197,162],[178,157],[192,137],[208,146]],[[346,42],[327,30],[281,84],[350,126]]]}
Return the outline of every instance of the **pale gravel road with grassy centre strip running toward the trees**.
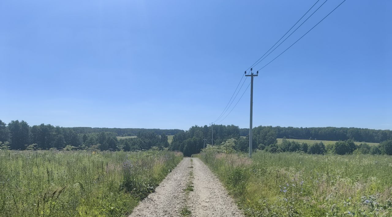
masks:
{"label": "pale gravel road with grassy centre strip running toward the trees", "polygon": [[[185,194],[191,171],[194,190]],[[184,158],[129,217],[177,217],[184,207],[194,217],[243,217],[218,178],[199,158]]]}

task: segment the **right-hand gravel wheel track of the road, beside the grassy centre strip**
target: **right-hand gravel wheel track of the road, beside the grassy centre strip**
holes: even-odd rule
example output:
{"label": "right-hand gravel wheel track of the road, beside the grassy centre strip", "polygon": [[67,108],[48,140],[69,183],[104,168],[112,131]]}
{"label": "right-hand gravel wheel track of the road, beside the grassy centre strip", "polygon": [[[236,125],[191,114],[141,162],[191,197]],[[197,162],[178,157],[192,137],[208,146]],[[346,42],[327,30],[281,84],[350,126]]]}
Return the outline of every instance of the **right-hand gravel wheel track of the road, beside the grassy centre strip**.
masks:
{"label": "right-hand gravel wheel track of the road, beside the grassy centre strip", "polygon": [[199,158],[192,159],[194,191],[187,201],[192,216],[243,217],[219,179]]}

